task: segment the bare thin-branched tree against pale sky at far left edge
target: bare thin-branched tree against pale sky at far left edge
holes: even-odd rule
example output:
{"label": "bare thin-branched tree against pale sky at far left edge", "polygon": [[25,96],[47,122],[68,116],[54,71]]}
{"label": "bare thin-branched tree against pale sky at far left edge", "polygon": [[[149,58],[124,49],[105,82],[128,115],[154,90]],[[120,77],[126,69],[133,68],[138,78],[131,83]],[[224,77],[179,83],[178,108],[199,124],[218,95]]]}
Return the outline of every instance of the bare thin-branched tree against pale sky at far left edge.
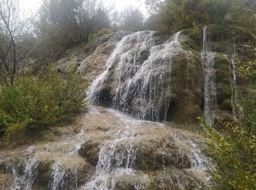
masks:
{"label": "bare thin-branched tree against pale sky at far left edge", "polygon": [[19,41],[31,21],[21,17],[19,7],[18,0],[2,0],[0,3],[0,83],[13,85],[18,61],[23,61],[27,53]]}

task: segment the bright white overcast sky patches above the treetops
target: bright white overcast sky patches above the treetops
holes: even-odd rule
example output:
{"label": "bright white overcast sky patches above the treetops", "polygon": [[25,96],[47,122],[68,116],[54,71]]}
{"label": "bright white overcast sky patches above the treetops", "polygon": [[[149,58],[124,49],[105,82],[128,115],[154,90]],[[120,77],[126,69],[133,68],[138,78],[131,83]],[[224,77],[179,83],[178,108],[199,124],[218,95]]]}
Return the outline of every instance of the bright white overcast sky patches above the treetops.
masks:
{"label": "bright white overcast sky patches above the treetops", "polygon": [[[115,3],[115,8],[120,11],[125,7],[140,7],[140,9],[145,12],[145,8],[143,7],[143,0],[102,0],[105,2],[106,5],[110,5],[113,2]],[[23,7],[26,9],[27,13],[34,11],[39,7],[42,0],[21,0]]]}

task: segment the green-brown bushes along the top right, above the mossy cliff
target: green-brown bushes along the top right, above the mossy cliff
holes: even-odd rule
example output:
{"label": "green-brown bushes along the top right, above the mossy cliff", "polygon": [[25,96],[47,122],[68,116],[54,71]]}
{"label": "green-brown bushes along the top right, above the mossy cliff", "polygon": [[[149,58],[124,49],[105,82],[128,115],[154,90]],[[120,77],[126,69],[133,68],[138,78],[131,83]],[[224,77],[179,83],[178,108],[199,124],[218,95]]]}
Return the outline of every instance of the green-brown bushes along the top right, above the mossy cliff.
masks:
{"label": "green-brown bushes along the top right, above the mossy cliff", "polygon": [[248,0],[165,0],[155,13],[157,29],[172,34],[185,28],[230,24],[255,31],[255,7]]}

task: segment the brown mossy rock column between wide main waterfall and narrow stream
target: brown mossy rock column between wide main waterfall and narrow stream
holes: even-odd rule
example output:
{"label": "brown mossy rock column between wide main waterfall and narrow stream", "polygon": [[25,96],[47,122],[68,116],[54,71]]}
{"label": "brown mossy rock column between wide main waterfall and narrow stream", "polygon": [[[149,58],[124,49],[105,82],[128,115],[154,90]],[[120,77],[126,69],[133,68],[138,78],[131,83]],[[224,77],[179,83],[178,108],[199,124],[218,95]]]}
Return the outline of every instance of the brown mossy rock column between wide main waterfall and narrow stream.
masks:
{"label": "brown mossy rock column between wide main waterfall and narrow stream", "polygon": [[[201,115],[203,97],[203,69],[197,52],[181,51],[173,56],[170,102],[175,103],[173,120],[177,123],[193,123]],[[171,116],[170,116],[171,118]]]}

